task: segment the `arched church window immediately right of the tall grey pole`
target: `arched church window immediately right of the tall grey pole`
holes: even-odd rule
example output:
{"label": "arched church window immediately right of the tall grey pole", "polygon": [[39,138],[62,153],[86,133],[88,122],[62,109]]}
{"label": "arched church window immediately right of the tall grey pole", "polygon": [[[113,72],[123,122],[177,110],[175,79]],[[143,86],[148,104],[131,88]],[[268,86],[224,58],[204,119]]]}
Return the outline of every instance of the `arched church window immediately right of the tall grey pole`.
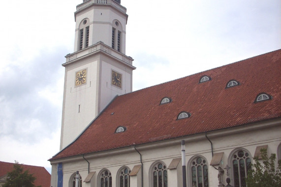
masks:
{"label": "arched church window immediately right of the tall grey pole", "polygon": [[193,158],[188,167],[191,174],[192,187],[209,187],[208,164],[205,158]]}

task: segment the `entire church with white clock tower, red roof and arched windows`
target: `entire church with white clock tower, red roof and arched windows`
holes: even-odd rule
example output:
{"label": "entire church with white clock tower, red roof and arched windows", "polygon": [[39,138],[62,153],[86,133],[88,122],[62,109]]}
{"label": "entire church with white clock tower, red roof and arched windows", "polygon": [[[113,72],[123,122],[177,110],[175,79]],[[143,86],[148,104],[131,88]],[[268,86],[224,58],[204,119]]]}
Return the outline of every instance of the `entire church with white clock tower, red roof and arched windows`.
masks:
{"label": "entire church with white clock tower, red roof and arched windows", "polygon": [[51,186],[246,187],[261,148],[281,159],[281,50],[132,92],[127,17],[77,5]]}

